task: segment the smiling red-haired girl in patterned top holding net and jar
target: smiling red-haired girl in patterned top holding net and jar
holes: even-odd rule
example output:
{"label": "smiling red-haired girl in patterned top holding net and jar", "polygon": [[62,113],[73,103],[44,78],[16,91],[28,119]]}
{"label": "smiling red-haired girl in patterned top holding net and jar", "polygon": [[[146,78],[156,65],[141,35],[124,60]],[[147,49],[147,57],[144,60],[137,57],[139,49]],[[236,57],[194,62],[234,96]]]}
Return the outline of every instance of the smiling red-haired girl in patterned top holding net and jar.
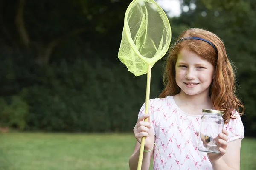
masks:
{"label": "smiling red-haired girl in patterned top holding net and jar", "polygon": [[[143,136],[142,170],[149,169],[152,156],[154,170],[239,170],[244,105],[235,96],[235,74],[221,39],[203,29],[184,31],[169,52],[164,80],[149,114],[145,103],[140,109],[130,170],[137,170]],[[202,109],[224,111],[219,154],[198,151]]]}

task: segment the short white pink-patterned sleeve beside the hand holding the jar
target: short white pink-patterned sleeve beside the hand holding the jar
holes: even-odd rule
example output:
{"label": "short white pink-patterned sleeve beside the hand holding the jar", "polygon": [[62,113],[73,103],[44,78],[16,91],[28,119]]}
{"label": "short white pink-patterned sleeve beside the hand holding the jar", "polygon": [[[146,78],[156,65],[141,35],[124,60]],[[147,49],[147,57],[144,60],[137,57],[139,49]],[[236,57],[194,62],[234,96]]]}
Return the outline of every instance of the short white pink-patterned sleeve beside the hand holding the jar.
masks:
{"label": "short white pink-patterned sleeve beside the hand holding the jar", "polygon": [[229,138],[227,142],[244,138],[244,125],[241,120],[241,116],[237,111],[235,111],[233,112],[232,117],[236,119],[230,119],[230,121],[225,125]]}

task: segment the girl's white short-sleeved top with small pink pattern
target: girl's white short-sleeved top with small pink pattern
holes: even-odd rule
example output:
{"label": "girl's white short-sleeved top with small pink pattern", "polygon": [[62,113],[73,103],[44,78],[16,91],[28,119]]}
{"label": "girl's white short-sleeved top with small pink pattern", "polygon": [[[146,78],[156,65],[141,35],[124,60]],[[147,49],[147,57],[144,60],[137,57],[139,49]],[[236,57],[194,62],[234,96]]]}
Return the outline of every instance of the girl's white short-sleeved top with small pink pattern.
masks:
{"label": "girl's white short-sleeved top with small pink pattern", "polygon": [[[139,116],[145,113],[145,103]],[[151,125],[155,135],[153,152],[154,170],[212,170],[207,153],[198,151],[200,119],[202,115],[190,115],[183,112],[173,96],[163,99],[151,99],[149,103]],[[230,119],[224,125],[229,140],[244,138],[244,126],[236,112],[236,119]]]}

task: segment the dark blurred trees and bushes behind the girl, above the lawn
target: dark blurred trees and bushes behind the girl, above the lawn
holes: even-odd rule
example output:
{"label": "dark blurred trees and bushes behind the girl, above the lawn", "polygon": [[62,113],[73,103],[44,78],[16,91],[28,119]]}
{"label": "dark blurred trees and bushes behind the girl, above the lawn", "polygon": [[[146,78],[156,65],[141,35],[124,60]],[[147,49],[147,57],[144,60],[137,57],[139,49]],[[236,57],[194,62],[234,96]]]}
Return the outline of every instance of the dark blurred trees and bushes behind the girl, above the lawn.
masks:
{"label": "dark blurred trees and bushes behind the girl, above the lawn", "polygon": [[[146,75],[117,58],[128,0],[0,1],[0,127],[23,131],[131,132]],[[247,136],[256,133],[256,3],[183,0],[170,17],[172,44],[185,28],[214,32],[237,67]],[[61,5],[60,5],[61,4]],[[186,10],[185,10],[186,9]],[[163,88],[164,59],[151,98]]]}

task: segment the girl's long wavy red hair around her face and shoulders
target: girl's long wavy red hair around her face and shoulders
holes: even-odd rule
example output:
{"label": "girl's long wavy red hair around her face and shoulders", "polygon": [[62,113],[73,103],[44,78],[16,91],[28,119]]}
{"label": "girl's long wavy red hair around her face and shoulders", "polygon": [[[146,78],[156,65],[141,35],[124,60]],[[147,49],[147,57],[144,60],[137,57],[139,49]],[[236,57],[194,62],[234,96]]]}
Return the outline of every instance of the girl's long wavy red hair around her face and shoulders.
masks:
{"label": "girl's long wavy red hair around her face and shoulders", "polygon": [[235,119],[232,116],[234,110],[238,111],[241,116],[244,113],[244,105],[236,96],[235,66],[227,57],[222,40],[212,32],[198,28],[183,31],[178,40],[186,37],[204,38],[215,45],[218,53],[212,45],[201,40],[187,39],[172,46],[166,59],[166,68],[163,75],[165,88],[159,95],[159,98],[174,96],[180,93],[180,87],[176,84],[175,80],[175,65],[178,54],[183,48],[186,48],[202,59],[206,59],[215,67],[215,78],[210,85],[209,96],[213,107],[216,110],[224,111],[223,118],[225,123],[228,123],[230,119]]}

